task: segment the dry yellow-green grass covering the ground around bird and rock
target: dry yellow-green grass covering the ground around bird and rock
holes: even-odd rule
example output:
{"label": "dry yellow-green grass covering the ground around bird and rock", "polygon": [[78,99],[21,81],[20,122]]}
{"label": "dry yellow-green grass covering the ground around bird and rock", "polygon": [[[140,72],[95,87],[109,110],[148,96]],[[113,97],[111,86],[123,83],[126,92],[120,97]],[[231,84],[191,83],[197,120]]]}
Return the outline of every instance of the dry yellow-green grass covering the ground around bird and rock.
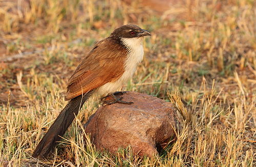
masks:
{"label": "dry yellow-green grass covering the ground around bird and rock", "polygon": [[[139,2],[0,1],[0,165],[255,166],[255,9],[253,0],[187,0],[159,16]],[[94,97],[52,160],[32,159],[76,65],[125,23],[153,35],[123,89],[172,101],[184,118],[178,141],[154,158],[97,151],[81,135]]]}

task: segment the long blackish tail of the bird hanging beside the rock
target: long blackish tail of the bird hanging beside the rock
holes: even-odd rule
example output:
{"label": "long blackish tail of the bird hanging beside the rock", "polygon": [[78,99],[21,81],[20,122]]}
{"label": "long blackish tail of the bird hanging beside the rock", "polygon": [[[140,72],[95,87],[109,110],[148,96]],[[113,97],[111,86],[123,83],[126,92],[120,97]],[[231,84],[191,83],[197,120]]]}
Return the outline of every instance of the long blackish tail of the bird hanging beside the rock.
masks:
{"label": "long blackish tail of the bird hanging beside the rock", "polygon": [[66,132],[73,122],[83,103],[87,101],[92,93],[93,91],[90,91],[86,95],[77,96],[69,101],[47,133],[42,137],[32,155],[33,157],[47,157],[47,155],[54,149],[56,142],[60,141],[60,136]]}

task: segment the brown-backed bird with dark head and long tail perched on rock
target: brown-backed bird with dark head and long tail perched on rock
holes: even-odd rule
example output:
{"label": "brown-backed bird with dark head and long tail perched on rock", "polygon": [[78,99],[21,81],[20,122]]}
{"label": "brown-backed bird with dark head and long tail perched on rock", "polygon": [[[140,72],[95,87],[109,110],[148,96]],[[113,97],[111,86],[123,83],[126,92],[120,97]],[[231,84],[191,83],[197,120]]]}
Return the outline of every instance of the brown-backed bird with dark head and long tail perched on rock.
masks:
{"label": "brown-backed bird with dark head and long tail perched on rock", "polygon": [[[32,157],[47,158],[49,156],[83,103],[92,94],[103,97],[102,102],[105,105],[133,103],[123,101],[122,97],[116,96],[125,92],[116,91],[132,78],[137,65],[142,61],[145,36],[151,36],[151,33],[138,25],[126,24],[115,29],[108,38],[95,44],[69,78],[65,96],[65,100],[69,102],[42,137]],[[104,100],[109,96],[111,100]]]}

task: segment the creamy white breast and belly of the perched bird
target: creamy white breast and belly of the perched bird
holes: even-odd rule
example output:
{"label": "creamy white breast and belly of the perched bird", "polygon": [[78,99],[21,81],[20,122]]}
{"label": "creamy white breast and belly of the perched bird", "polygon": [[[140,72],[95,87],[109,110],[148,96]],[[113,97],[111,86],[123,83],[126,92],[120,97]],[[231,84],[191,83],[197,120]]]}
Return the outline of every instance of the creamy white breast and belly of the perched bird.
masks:
{"label": "creamy white breast and belly of the perched bird", "polygon": [[106,96],[109,93],[118,91],[129,79],[132,78],[138,64],[143,59],[143,37],[140,38],[122,38],[121,41],[129,50],[125,60],[125,70],[122,76],[115,82],[108,82],[97,90],[100,96]]}

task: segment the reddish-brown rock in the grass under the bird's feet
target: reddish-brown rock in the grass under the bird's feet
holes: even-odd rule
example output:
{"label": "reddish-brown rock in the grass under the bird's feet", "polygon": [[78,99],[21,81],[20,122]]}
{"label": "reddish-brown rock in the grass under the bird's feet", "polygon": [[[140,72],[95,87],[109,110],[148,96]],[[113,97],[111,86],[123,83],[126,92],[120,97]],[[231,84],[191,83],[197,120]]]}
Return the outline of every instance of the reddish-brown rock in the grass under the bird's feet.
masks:
{"label": "reddish-brown rock in the grass under the bird's feet", "polygon": [[134,103],[101,106],[84,125],[97,149],[116,153],[120,147],[131,146],[134,154],[152,157],[176,138],[172,103],[136,92],[120,96]]}

